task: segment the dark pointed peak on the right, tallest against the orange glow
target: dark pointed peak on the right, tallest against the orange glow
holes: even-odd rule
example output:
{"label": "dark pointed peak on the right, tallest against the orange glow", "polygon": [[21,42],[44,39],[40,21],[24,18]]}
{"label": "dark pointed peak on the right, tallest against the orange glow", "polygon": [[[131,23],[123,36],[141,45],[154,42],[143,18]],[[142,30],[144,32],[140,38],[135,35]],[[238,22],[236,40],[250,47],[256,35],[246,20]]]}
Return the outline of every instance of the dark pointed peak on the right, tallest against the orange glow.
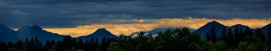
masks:
{"label": "dark pointed peak on the right, tallest against the orange glow", "polygon": [[223,28],[229,29],[228,27],[217,21],[212,21],[197,29],[196,32],[200,33],[202,37],[205,37],[206,33],[209,32],[213,25],[215,25],[216,34],[218,35],[218,37],[220,37]]}

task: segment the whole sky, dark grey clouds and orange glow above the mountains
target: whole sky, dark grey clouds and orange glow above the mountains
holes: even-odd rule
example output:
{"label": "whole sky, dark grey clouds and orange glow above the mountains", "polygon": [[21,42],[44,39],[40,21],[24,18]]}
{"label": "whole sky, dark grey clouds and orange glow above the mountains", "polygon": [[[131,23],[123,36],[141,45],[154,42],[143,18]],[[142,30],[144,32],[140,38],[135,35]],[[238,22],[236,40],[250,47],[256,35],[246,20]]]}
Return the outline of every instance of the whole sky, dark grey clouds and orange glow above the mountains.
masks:
{"label": "whole sky, dark grey clouds and orange glow above the mountains", "polygon": [[129,35],[155,28],[198,29],[216,20],[260,28],[271,22],[270,0],[0,0],[0,23],[12,29],[40,25],[61,35],[106,28]]}

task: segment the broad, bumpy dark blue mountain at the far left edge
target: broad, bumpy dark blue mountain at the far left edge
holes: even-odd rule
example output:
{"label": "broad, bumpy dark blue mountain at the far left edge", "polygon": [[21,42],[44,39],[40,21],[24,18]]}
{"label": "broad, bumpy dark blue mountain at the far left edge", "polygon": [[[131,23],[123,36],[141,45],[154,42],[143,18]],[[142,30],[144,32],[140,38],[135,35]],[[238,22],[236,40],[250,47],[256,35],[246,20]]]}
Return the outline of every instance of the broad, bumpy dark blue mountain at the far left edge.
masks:
{"label": "broad, bumpy dark blue mountain at the far left edge", "polygon": [[46,40],[62,40],[64,38],[64,35],[58,35],[58,34],[54,34],[51,32],[47,32],[45,30],[42,30],[42,28],[40,28],[38,25],[33,25],[33,26],[29,26],[26,25],[24,27],[21,27],[20,29],[18,29],[18,31],[14,31],[11,30],[7,27],[3,27],[5,25],[0,25],[1,30],[0,32],[4,31],[4,29],[2,28],[6,28],[6,31],[9,31],[8,34],[4,35],[4,37],[2,37],[3,41],[17,41],[17,40],[25,40],[26,38],[35,38],[38,37],[38,39],[42,42],[46,42]]}

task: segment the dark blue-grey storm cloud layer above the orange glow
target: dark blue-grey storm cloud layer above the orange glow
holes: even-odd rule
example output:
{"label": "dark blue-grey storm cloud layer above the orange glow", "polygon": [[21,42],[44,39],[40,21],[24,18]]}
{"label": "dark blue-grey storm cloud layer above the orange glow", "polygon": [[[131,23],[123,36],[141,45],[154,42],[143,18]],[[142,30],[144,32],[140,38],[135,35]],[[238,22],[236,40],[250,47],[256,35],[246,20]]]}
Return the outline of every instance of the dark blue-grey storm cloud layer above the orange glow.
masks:
{"label": "dark blue-grey storm cloud layer above the orange glow", "polygon": [[129,19],[270,18],[270,0],[5,0],[0,23],[12,28],[38,24],[70,28],[97,23],[135,23]]}

